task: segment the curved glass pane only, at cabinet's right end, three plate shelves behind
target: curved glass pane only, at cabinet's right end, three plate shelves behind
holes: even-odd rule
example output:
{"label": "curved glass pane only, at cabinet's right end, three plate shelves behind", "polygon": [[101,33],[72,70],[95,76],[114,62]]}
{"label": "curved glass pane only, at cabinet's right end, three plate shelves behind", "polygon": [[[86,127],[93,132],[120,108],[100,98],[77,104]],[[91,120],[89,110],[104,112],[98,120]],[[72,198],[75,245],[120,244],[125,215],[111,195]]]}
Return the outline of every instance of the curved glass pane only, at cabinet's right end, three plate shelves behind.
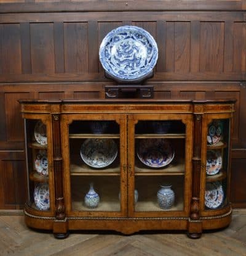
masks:
{"label": "curved glass pane only, at cabinet's right end, three plate shelves behind", "polygon": [[221,209],[228,205],[229,119],[212,120],[208,124],[205,209]]}

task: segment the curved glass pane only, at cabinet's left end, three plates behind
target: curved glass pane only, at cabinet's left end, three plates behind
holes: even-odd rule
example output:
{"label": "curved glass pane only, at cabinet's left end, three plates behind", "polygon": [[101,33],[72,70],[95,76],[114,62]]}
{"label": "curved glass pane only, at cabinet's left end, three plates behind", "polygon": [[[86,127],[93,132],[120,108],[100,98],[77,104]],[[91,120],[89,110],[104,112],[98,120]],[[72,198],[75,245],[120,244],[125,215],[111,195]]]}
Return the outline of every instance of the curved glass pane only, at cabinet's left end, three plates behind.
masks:
{"label": "curved glass pane only, at cabinet's left end, three plates behind", "polygon": [[47,126],[39,119],[25,119],[28,165],[27,204],[35,210],[50,210]]}

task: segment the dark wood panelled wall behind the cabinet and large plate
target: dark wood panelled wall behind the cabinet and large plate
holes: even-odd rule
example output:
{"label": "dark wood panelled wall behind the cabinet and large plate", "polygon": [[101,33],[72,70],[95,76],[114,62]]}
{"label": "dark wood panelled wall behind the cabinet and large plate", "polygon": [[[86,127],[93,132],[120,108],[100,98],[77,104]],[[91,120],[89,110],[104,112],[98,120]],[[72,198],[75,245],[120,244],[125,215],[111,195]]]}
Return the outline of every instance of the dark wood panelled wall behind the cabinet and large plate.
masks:
{"label": "dark wood panelled wall behind the cabinet and large plate", "polygon": [[98,47],[121,25],[143,27],[157,41],[159,59],[146,82],[154,97],[237,99],[231,200],[246,207],[245,1],[141,2],[0,1],[0,209],[20,209],[26,196],[17,100],[104,98],[113,81],[104,77]]}

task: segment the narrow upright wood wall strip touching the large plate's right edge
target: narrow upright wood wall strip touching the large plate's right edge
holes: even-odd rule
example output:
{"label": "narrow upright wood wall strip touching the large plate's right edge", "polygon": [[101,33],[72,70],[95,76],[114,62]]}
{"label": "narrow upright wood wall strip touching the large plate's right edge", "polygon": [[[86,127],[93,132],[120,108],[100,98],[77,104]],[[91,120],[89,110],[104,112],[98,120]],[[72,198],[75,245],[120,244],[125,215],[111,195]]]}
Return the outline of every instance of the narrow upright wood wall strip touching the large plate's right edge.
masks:
{"label": "narrow upright wood wall strip touching the large plate's right edge", "polygon": [[165,70],[166,22],[158,20],[156,24],[156,43],[158,46],[157,72]]}

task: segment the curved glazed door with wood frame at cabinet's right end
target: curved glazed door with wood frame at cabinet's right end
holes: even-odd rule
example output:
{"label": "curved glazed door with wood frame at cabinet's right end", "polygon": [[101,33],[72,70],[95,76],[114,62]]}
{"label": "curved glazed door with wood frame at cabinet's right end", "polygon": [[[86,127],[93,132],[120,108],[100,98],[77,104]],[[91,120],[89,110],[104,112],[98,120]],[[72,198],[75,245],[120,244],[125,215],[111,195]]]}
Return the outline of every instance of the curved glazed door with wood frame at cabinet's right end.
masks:
{"label": "curved glazed door with wood frame at cabinet's right end", "polygon": [[203,125],[202,210],[223,213],[229,206],[231,115],[205,115]]}

